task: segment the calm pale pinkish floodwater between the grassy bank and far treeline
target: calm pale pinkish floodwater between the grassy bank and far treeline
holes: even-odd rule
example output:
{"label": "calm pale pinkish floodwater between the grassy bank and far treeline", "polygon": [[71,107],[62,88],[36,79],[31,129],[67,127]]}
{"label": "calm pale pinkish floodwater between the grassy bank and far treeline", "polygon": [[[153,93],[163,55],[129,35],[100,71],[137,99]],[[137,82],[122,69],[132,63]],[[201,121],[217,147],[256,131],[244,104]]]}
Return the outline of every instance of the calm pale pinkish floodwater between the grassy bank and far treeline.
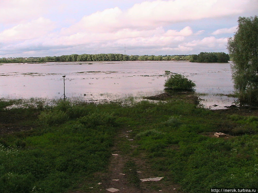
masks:
{"label": "calm pale pinkish floodwater between the grassy bank and far treeline", "polygon": [[[92,64],[89,64],[92,63]],[[165,73],[170,71],[170,73]],[[116,100],[163,92],[169,75],[180,73],[196,83],[206,107],[230,106],[234,98],[230,63],[185,61],[49,62],[0,65],[0,98],[69,98]]]}

